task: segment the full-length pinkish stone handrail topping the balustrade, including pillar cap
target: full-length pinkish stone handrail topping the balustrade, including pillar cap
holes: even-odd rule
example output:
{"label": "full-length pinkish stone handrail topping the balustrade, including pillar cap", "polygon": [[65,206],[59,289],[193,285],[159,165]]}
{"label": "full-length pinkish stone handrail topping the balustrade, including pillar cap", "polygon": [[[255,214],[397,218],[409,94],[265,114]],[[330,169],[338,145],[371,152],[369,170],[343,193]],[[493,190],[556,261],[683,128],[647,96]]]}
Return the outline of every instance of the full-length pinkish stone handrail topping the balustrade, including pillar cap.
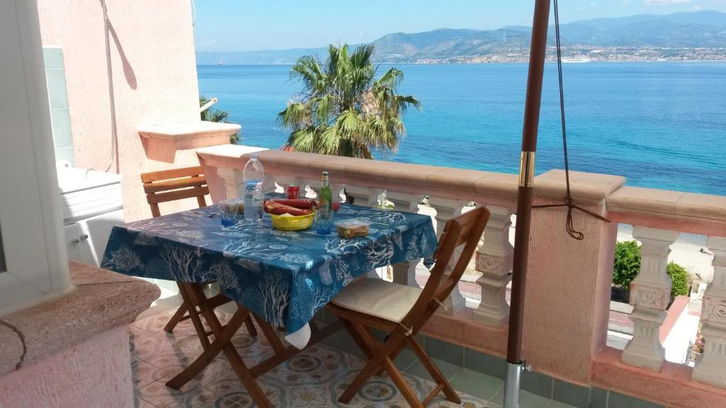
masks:
{"label": "full-length pinkish stone handrail topping the balustrade, including pillar cap", "polygon": [[[197,155],[210,166],[241,170],[250,148],[227,144],[198,149]],[[515,174],[280,150],[262,150],[258,158],[265,171],[276,176],[314,180],[327,170],[336,184],[455,197],[505,207],[515,204],[517,194]],[[726,196],[629,187],[623,185],[624,181],[621,176],[572,171],[572,195],[586,205],[601,204],[604,200],[605,205],[598,209],[612,221],[726,236]],[[564,193],[563,171],[547,171],[536,177],[535,197],[540,202],[557,201]]]}

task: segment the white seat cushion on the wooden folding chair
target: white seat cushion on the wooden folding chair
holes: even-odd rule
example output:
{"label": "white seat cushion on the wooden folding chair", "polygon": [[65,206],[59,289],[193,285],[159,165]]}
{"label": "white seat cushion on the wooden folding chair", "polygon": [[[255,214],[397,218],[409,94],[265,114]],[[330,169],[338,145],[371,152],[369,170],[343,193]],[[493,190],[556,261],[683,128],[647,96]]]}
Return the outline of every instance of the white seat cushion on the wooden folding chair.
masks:
{"label": "white seat cushion on the wooden folding chair", "polygon": [[363,279],[343,287],[343,290],[333,298],[333,303],[391,322],[401,322],[422,291],[420,287],[399,285],[373,278]]}

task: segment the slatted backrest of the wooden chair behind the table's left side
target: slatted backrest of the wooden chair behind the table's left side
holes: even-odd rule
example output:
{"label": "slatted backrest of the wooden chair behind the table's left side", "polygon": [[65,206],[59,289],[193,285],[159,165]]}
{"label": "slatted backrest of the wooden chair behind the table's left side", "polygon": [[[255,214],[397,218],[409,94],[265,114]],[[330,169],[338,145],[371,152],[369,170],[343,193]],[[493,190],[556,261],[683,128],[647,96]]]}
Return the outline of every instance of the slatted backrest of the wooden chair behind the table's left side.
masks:
{"label": "slatted backrest of the wooden chair behind the table's left side", "polygon": [[159,203],[184,198],[196,197],[200,208],[207,206],[204,196],[209,194],[209,187],[201,166],[143,173],[141,181],[152,216],[161,216]]}

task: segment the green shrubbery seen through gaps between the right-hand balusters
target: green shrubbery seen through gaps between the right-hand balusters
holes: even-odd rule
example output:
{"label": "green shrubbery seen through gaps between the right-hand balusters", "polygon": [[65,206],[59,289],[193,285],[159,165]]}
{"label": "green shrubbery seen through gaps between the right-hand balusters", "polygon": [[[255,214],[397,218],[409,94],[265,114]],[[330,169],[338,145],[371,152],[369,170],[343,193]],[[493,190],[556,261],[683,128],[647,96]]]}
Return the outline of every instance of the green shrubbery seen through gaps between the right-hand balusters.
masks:
{"label": "green shrubbery seen through gaps between the right-hand balusters", "polygon": [[[615,245],[613,285],[630,289],[630,282],[640,272],[640,245],[636,241],[618,242]],[[669,262],[666,269],[671,277],[671,299],[677,295],[688,295],[688,270],[675,262]]]}

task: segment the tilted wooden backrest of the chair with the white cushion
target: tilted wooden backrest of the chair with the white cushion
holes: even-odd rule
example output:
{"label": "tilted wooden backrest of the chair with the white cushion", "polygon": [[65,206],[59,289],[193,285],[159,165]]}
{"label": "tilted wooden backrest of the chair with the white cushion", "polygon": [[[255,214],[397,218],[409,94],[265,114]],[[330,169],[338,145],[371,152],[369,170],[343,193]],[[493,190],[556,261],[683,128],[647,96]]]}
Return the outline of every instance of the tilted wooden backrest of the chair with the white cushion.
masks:
{"label": "tilted wooden backrest of the chair with the white cushion", "polygon": [[[428,319],[430,313],[425,313],[425,310],[430,307],[431,301],[436,298],[440,304],[454,290],[471,261],[487,221],[489,221],[489,210],[486,207],[475,208],[446,221],[444,232],[439,237],[439,246],[433,255],[436,264],[431,269],[431,275],[421,295],[404,318],[404,322],[414,323],[420,318]],[[451,272],[447,273],[446,266],[452,261],[457,248],[461,245],[464,246],[461,255]]]}

